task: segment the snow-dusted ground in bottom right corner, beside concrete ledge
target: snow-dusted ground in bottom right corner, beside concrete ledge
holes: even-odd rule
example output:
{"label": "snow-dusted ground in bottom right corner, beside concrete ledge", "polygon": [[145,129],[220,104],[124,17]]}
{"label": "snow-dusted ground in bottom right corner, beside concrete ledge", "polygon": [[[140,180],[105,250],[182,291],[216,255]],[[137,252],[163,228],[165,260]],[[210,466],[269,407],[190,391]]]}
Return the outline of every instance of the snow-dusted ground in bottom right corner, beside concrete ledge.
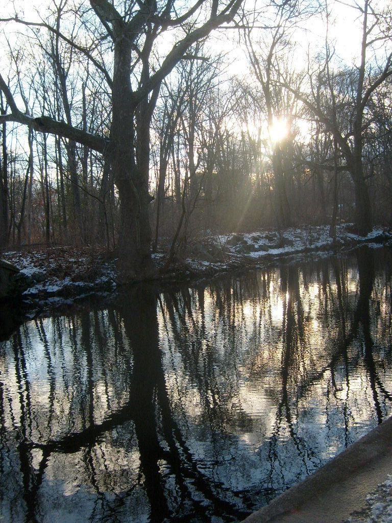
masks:
{"label": "snow-dusted ground in bottom right corner, beside concrete ledge", "polygon": [[366,508],[356,511],[345,523],[392,523],[392,475],[366,496]]}

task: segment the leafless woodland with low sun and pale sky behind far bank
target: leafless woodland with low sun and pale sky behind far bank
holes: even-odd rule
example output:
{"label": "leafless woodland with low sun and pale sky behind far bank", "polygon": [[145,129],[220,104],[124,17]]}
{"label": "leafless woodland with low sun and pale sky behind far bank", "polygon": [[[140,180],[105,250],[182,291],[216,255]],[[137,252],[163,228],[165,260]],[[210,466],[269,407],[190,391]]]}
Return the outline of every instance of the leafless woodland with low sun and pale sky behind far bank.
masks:
{"label": "leafless woodland with low sun and pale sky behind far bank", "polygon": [[30,4],[0,9],[0,250],[143,278],[206,235],[391,225],[388,2]]}

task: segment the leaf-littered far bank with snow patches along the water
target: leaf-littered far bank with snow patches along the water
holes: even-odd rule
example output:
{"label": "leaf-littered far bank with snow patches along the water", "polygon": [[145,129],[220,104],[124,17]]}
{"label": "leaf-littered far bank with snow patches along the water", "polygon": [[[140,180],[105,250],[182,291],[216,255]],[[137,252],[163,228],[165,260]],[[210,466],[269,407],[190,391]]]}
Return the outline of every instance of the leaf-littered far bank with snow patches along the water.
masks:
{"label": "leaf-littered far bank with snow patches along the water", "polygon": [[[281,257],[312,254],[330,256],[360,243],[392,245],[392,231],[374,229],[366,237],[339,225],[336,242],[328,226],[286,229],[281,234],[257,231],[246,234],[204,235],[188,246],[188,257],[167,267],[164,252],[153,254],[159,282],[177,283],[211,278],[225,272],[262,267]],[[94,293],[111,293],[118,287],[116,259],[96,247],[48,247],[8,251],[3,259],[20,269],[25,290],[22,298],[41,308],[71,304]]]}

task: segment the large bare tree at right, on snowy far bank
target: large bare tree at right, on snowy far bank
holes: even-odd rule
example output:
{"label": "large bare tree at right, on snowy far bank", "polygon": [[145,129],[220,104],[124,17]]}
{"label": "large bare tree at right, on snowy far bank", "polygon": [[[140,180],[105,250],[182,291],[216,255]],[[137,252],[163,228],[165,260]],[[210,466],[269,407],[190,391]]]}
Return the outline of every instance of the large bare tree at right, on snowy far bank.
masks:
{"label": "large bare tree at right, on snowy far bank", "polygon": [[[371,124],[367,108],[377,89],[392,75],[392,33],[386,10],[378,10],[374,0],[355,4],[361,19],[360,63],[340,70],[332,66],[333,53],[327,52],[316,70],[308,69],[308,93],[281,84],[294,93],[325,132],[333,135],[355,192],[355,226],[361,235],[372,230],[371,201],[363,168],[364,135]],[[335,94],[331,97],[331,92]]]}

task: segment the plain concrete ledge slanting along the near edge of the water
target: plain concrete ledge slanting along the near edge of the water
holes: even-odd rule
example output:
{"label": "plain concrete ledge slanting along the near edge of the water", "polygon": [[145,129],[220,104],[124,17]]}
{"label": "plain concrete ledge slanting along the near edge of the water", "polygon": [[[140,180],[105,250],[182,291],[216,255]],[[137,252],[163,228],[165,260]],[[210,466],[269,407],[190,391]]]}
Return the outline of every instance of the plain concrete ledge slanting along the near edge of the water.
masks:
{"label": "plain concrete ledge slanting along the near edge of the water", "polygon": [[244,523],[341,523],[392,473],[392,417]]}

